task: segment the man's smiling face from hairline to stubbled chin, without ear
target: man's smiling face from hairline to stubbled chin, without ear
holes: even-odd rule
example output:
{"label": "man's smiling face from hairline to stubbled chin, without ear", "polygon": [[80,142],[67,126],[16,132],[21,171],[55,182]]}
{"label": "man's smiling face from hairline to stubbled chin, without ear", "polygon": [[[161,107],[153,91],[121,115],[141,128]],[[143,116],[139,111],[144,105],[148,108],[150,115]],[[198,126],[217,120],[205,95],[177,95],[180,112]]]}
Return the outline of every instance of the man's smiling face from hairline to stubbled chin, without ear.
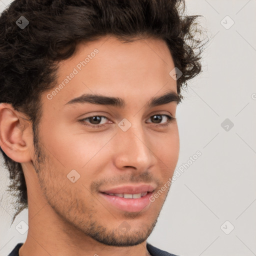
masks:
{"label": "man's smiling face from hairline to stubbled chin, without ear", "polygon": [[[164,41],[107,38],[79,44],[60,62],[58,89],[41,96],[39,151],[33,156],[41,191],[36,196],[44,197],[69,229],[127,246],[151,233],[169,186],[153,202],[148,197],[166,187],[178,159],[177,123],[166,116],[175,117],[177,102],[149,103],[177,90]],[[69,102],[82,94],[118,97],[124,106]],[[140,197],[141,192],[147,194]],[[124,198],[130,194],[140,198]]]}

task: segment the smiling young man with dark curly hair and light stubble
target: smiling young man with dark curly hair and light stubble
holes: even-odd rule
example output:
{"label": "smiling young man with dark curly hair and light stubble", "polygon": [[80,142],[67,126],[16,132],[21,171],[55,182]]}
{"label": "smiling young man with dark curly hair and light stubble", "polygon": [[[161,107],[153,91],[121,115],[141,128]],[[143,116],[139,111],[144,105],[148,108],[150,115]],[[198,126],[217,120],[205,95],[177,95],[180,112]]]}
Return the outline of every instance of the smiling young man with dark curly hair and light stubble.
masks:
{"label": "smiling young man with dark curly hair and light stubble", "polygon": [[181,88],[201,71],[181,4],[15,0],[2,12],[12,222],[28,207],[9,255],[174,255],[146,239],[178,160]]}

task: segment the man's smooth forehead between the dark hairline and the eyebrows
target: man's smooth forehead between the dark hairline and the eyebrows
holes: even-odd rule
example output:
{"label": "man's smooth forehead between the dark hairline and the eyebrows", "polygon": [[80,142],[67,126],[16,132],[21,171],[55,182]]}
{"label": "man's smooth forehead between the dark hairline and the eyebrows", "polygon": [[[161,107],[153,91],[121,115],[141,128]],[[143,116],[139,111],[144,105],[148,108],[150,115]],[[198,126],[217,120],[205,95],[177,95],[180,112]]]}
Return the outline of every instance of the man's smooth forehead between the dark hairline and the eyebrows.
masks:
{"label": "man's smooth forehead between the dark hairline and the eyebrows", "polygon": [[173,68],[171,53],[162,39],[122,42],[104,36],[80,42],[70,58],[60,61],[56,86],[47,93],[55,91],[50,103],[61,106],[83,93],[126,100],[138,95],[148,100],[147,95],[163,94],[161,89],[176,91],[176,81],[169,75]]}

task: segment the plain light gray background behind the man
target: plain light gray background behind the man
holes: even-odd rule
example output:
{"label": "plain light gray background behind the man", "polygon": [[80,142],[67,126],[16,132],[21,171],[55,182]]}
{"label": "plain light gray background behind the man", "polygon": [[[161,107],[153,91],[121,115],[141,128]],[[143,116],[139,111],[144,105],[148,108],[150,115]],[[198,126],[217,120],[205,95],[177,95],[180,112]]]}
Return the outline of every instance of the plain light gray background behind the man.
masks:
{"label": "plain light gray background behind the man", "polygon": [[[1,0],[0,10],[9,2]],[[147,240],[180,256],[256,255],[255,7],[256,0],[186,2],[188,14],[204,16],[211,40],[203,72],[189,81],[177,109],[176,168],[197,150],[201,156],[171,185]],[[229,29],[220,23],[226,15],[234,21]],[[230,24],[228,18],[223,22]],[[228,131],[220,125],[226,118],[234,124]],[[15,226],[28,217],[24,210],[10,226],[14,211],[4,192],[8,176],[2,166],[0,180],[0,255],[6,256],[25,241],[26,233],[19,234]]]}

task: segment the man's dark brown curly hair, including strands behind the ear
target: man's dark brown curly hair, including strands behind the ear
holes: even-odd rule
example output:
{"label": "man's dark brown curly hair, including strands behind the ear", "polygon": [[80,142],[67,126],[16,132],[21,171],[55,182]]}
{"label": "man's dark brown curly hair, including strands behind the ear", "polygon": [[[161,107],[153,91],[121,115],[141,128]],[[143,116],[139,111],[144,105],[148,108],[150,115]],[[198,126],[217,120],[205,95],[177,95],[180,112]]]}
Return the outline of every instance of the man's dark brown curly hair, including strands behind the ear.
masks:
{"label": "man's dark brown curly hair, including strands behind the ear", "polygon": [[[32,123],[34,145],[41,116],[40,95],[55,86],[58,61],[74,54],[77,43],[114,35],[123,42],[165,40],[182,75],[177,93],[201,72],[203,40],[197,17],[186,15],[184,0],[14,0],[0,15],[0,102],[10,103]],[[29,24],[16,22],[24,16]],[[201,27],[201,26],[200,26]],[[1,149],[9,171],[8,191],[15,214],[27,208],[21,164]]]}

